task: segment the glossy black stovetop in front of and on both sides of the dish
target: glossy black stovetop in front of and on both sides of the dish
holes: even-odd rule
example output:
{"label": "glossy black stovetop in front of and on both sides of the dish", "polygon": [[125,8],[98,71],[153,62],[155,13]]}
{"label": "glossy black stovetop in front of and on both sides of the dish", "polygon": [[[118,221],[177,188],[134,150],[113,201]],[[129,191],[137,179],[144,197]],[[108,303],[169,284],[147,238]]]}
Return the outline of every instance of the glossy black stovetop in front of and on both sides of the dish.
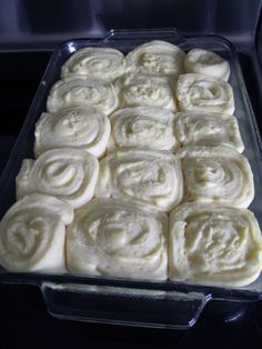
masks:
{"label": "glossy black stovetop in front of and on both sides of the dish", "polygon": [[[14,144],[51,52],[0,53],[0,172]],[[262,110],[259,62],[252,48],[239,50],[256,120]],[[261,123],[261,124],[260,124]],[[208,303],[189,330],[148,329],[58,320],[39,288],[0,285],[0,349],[9,348],[262,348],[262,301]]]}

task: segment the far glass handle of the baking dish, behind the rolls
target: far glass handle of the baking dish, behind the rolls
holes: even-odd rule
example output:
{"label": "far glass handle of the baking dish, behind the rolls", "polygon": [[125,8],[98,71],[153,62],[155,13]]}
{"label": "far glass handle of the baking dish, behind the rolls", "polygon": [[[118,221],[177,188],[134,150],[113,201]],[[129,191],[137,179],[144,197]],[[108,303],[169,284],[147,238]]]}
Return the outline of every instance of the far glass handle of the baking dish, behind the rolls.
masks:
{"label": "far glass handle of the baking dish, behind the rolls", "polygon": [[171,40],[173,43],[180,43],[185,41],[185,39],[180,34],[175,28],[164,28],[161,30],[158,29],[111,29],[104,37],[104,41],[114,41],[114,40]]}

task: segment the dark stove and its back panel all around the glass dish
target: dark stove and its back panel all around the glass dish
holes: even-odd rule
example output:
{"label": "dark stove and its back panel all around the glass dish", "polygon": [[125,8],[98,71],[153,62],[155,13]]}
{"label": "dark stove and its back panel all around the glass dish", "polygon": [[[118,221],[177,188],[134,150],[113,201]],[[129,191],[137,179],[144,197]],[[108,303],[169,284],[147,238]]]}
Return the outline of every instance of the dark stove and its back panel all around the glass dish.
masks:
{"label": "dark stove and its back panel all around the glass dish", "polygon": [[[262,130],[260,0],[0,0],[0,171],[21,129],[52,49],[109,29],[170,28],[231,40]],[[229,321],[229,316],[235,316]],[[187,331],[57,320],[39,288],[0,283],[0,349],[262,348],[262,301],[206,306]]]}

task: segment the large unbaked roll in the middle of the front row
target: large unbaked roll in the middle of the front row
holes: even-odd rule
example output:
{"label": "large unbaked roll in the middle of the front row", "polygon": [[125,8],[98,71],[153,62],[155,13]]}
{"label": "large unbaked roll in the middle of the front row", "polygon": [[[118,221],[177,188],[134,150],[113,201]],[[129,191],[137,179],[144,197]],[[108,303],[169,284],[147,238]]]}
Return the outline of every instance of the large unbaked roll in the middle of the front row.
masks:
{"label": "large unbaked roll in the middle of the front row", "polygon": [[127,201],[92,200],[67,230],[67,267],[87,275],[167,279],[168,217]]}

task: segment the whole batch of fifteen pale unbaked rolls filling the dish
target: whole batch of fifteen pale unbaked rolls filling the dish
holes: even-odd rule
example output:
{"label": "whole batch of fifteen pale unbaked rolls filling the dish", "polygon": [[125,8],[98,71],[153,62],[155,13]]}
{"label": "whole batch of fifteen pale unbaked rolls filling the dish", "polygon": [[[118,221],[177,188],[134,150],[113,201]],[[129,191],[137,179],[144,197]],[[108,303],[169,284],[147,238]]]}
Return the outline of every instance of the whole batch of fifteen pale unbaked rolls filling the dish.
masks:
{"label": "whole batch of fifteen pale unbaked rolls filling the dish", "polygon": [[262,269],[254,182],[230,64],[147,42],[84,48],[62,66],[34,159],[0,222],[0,265],[242,287]]}

